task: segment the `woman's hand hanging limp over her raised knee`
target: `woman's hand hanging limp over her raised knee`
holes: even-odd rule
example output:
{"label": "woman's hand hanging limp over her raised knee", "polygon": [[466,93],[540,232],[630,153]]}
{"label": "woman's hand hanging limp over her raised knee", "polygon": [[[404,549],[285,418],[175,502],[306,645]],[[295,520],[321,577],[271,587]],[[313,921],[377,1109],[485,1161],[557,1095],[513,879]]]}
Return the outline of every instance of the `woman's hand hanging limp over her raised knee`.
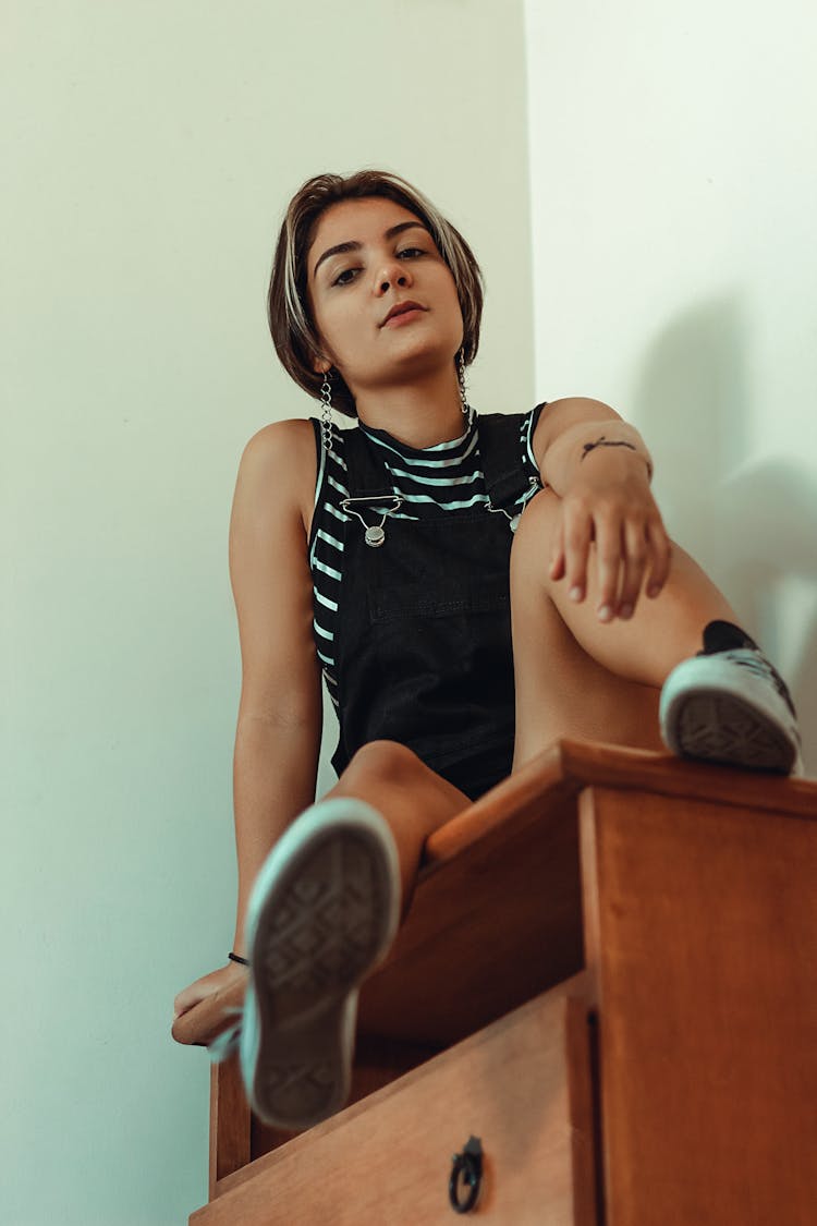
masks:
{"label": "woman's hand hanging limp over her raised knee", "polygon": [[644,457],[626,446],[588,455],[561,495],[550,577],[563,579],[570,598],[581,602],[592,566],[599,620],[626,620],[642,593],[660,595],[670,560]]}

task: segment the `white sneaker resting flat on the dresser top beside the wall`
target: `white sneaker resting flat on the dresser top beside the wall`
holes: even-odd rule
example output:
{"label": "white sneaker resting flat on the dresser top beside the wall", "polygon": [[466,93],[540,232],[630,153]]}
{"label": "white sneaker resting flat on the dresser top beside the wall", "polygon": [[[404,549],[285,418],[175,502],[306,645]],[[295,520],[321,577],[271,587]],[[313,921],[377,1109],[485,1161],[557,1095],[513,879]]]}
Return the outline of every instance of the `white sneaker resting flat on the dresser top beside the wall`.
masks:
{"label": "white sneaker resting flat on the dresser top beside the wall", "polygon": [[664,743],[683,758],[801,775],[789,690],[748,636],[746,642],[704,651],[672,669],[659,709]]}

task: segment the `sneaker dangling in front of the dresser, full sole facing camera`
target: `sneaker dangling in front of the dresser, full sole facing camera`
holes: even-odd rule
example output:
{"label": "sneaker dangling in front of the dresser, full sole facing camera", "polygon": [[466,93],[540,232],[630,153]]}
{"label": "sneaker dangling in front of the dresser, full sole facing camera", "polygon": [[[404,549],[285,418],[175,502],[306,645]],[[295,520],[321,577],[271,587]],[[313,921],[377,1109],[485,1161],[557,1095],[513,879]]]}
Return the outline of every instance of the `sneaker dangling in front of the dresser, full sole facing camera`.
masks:
{"label": "sneaker dangling in front of the dresser, full sole facing camera", "polygon": [[399,922],[393,835],[363,801],[321,801],[284,831],[247,906],[239,1040],[255,1113],[311,1128],[349,1096],[360,982]]}

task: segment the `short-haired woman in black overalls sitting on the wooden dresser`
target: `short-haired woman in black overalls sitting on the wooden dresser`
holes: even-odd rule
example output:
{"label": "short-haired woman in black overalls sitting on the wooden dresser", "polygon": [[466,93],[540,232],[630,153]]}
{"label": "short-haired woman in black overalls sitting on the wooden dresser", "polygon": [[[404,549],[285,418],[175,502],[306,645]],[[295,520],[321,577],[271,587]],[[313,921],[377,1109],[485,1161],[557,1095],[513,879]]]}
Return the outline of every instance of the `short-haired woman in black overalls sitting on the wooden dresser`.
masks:
{"label": "short-haired woman in black overalls sitting on the wooden dresser", "polygon": [[[241,460],[238,920],[229,965],[175,1003],[249,965],[241,1064],[283,1127],[345,1100],[358,987],[427,835],[556,737],[658,749],[660,700],[676,753],[797,763],[788,691],[670,543],[638,433],[592,400],[469,408],[481,304],[467,243],[394,175],[293,199],[269,322],[322,421],[268,425]],[[309,808],[321,674],[339,780]]]}

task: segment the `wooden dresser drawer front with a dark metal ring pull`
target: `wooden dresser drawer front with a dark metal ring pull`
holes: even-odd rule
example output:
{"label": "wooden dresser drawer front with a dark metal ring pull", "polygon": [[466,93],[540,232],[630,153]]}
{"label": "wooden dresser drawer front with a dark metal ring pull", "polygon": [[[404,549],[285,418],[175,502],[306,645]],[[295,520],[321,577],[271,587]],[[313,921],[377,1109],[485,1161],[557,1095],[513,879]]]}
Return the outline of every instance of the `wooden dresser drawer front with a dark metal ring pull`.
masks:
{"label": "wooden dresser drawer front with a dark metal ring pull", "polygon": [[[465,1217],[594,1226],[582,977],[530,1000],[223,1181],[195,1226],[453,1222],[452,1156],[480,1139]],[[461,1183],[461,1199],[467,1188]]]}

